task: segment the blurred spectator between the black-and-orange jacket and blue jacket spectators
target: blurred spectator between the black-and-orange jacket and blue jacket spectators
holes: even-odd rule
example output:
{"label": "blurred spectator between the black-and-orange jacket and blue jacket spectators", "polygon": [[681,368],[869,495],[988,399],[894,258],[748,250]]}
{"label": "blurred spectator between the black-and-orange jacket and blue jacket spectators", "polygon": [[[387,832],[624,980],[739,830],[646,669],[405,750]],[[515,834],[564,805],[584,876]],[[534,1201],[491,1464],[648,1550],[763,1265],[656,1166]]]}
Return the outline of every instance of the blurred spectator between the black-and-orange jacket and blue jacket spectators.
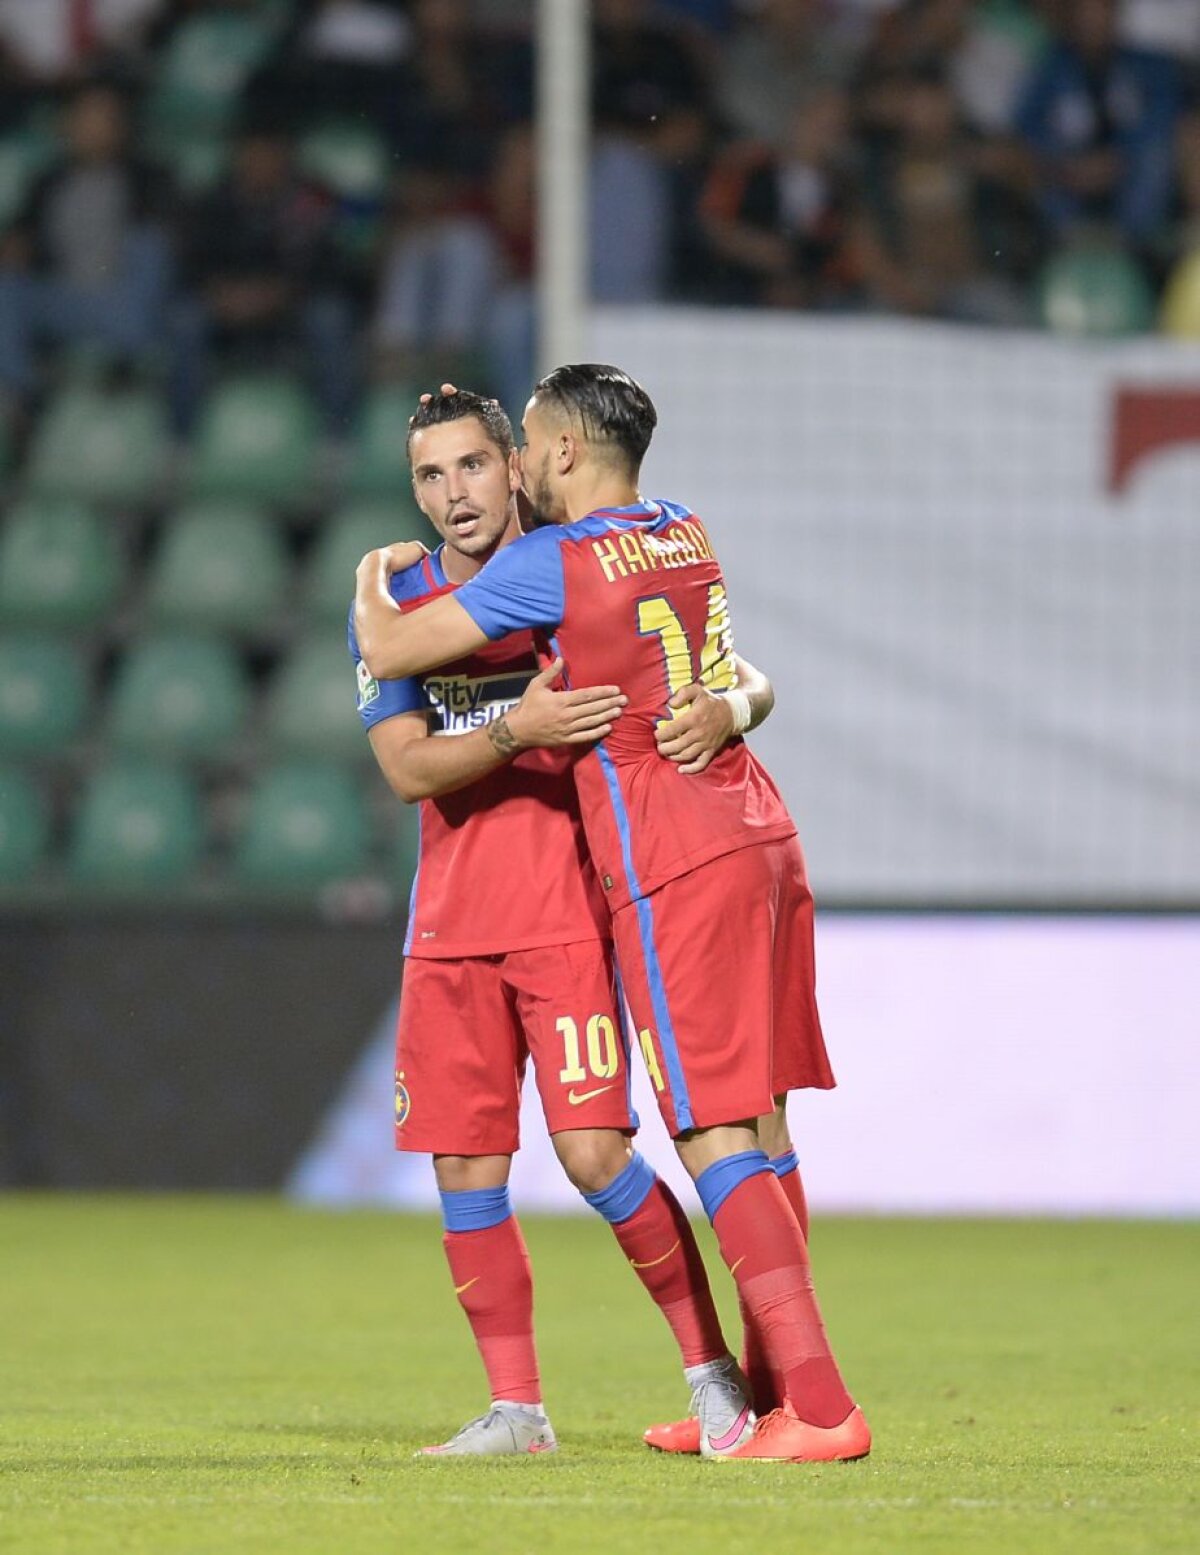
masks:
{"label": "blurred spectator between the black-and-orange jacket and blue jacket spectators", "polygon": [[[883,308],[976,323],[1021,325],[1029,303],[1010,274],[1012,193],[1004,162],[972,140],[948,82],[909,78],[898,138],[864,179],[860,255],[867,294]],[[1006,236],[998,243],[995,232]],[[1021,233],[1015,247],[1034,247]]]}

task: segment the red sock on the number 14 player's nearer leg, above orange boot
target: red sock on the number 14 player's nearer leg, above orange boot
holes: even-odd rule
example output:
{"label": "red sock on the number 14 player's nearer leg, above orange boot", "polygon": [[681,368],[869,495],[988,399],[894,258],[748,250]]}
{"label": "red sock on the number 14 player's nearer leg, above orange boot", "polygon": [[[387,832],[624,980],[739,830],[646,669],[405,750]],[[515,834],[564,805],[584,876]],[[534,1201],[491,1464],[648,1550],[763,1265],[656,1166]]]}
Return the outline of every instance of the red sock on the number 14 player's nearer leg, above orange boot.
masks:
{"label": "red sock on the number 14 player's nearer leg, above orange boot", "polygon": [[853,1400],[828,1348],[796,1216],[776,1174],[738,1183],[713,1216],[721,1256],[759,1331],[783,1396],[811,1426],[836,1426]]}

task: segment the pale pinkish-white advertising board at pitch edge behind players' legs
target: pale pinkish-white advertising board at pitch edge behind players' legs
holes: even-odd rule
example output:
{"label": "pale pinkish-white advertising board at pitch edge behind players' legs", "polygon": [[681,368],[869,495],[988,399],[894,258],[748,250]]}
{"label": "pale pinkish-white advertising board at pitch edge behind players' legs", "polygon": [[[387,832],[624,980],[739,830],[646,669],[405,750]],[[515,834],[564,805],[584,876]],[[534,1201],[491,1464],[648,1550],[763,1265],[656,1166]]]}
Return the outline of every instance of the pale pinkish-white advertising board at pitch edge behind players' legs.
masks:
{"label": "pale pinkish-white advertising board at pitch edge behind players' legs", "polygon": [[[839,1085],[793,1098],[815,1211],[1200,1214],[1200,917],[818,924]],[[297,1165],[317,1204],[435,1208],[392,1149],[389,1012]],[[634,1059],[639,1149],[698,1202]],[[420,1106],[420,1098],[413,1098]],[[515,1200],[581,1210],[525,1085]]]}

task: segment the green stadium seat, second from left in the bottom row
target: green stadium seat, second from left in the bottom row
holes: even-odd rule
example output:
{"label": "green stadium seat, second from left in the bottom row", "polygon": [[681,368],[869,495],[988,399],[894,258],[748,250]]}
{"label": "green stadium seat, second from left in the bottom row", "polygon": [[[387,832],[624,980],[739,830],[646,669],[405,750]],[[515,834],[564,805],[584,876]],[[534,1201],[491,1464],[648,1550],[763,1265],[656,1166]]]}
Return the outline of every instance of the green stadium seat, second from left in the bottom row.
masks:
{"label": "green stadium seat, second from left in the bottom row", "polygon": [[117,764],[93,773],[75,821],[70,872],[113,888],[169,885],[196,865],[204,837],[196,785],[171,767]]}

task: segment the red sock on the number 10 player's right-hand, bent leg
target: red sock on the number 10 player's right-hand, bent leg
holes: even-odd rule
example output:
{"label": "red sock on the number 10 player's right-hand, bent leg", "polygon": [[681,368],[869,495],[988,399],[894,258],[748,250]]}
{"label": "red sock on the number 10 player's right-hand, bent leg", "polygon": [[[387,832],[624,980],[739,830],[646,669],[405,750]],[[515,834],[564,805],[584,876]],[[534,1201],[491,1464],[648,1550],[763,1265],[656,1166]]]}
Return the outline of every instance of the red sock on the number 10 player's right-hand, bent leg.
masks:
{"label": "red sock on the number 10 player's right-hand, bent leg", "polygon": [[709,1275],[684,1208],[662,1179],[640,1207],[612,1227],[634,1274],[672,1325],[684,1365],[729,1354]]}

